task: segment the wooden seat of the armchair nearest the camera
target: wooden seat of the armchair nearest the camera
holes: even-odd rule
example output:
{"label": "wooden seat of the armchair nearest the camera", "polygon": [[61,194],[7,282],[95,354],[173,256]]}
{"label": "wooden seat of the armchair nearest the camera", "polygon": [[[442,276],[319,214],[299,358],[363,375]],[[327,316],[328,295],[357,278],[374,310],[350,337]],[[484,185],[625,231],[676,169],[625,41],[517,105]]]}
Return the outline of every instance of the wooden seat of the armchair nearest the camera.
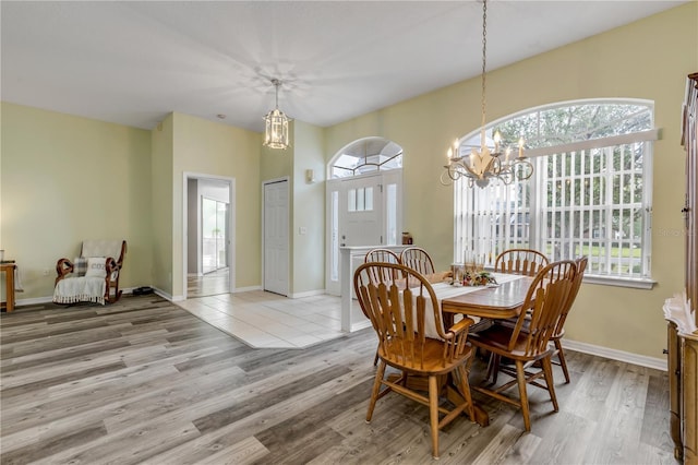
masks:
{"label": "wooden seat of the armchair nearest the camera", "polygon": [[[414,347],[412,347],[414,345]],[[405,349],[407,347],[407,349]],[[453,371],[454,367],[464,363],[472,354],[472,347],[454,357],[448,362],[443,362],[444,342],[426,337],[423,351],[413,341],[393,338],[387,344],[378,347],[378,357],[387,365],[407,372],[420,374],[444,374]]]}

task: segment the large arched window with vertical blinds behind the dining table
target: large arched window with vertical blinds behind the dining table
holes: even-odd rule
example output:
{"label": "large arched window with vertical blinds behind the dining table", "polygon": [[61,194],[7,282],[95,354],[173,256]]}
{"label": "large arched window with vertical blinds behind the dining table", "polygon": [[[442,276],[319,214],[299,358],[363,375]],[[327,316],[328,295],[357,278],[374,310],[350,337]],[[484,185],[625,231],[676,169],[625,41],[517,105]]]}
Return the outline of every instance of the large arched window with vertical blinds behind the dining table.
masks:
{"label": "large arched window with vertical blinds behind the dining table", "polygon": [[[508,186],[455,183],[456,261],[524,247],[550,260],[588,255],[589,281],[650,287],[653,104],[566,102],[486,128],[495,130],[505,146],[526,140],[534,172]],[[461,151],[479,133],[462,138]]]}

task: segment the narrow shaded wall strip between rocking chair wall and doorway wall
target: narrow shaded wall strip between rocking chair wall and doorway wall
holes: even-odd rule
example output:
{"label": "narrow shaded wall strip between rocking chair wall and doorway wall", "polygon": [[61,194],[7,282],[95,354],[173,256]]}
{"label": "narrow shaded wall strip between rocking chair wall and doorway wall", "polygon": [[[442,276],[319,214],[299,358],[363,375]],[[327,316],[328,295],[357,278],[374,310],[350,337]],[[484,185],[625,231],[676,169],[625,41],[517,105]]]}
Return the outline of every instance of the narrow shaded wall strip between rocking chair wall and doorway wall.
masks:
{"label": "narrow shaded wall strip between rocking chair wall and doorway wall", "polygon": [[145,222],[153,230],[153,285],[172,296],[172,152],[173,118],[151,131],[153,212]]}

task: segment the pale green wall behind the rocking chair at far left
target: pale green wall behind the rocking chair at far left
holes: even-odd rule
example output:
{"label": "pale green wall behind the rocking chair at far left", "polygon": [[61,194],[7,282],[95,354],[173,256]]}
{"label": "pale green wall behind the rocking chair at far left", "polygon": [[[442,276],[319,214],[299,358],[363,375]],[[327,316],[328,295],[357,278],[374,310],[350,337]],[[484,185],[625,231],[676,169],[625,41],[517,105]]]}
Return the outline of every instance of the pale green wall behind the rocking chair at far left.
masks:
{"label": "pale green wall behind the rocking chair at far left", "polygon": [[148,131],[1,105],[0,246],[17,261],[16,298],[52,296],[56,262],[83,239],[125,239],[120,285],[151,284]]}

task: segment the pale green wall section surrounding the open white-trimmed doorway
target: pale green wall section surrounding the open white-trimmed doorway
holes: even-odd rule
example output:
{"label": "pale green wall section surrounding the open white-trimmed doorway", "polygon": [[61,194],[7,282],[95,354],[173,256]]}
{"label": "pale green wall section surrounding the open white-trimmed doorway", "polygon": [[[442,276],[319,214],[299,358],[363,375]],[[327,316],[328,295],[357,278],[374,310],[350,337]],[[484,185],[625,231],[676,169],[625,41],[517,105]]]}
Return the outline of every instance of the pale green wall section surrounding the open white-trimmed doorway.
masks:
{"label": "pale green wall section surrounding the open white-trimmed doorway", "polygon": [[236,180],[236,287],[258,286],[261,279],[261,180],[257,132],[202,118],[173,114],[173,169],[170,201],[173,296],[183,294],[182,195],[184,172],[215,175]]}

